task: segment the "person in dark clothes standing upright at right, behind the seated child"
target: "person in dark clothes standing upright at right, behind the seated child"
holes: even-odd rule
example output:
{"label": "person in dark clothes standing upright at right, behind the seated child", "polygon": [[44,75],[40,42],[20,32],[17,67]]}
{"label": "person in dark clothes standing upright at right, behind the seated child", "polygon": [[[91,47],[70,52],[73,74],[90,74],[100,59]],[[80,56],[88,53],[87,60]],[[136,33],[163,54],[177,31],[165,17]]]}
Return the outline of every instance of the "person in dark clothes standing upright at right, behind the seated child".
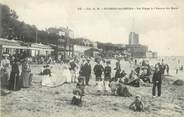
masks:
{"label": "person in dark clothes standing upright at right, behind the seated child", "polygon": [[152,88],[153,97],[155,97],[156,88],[157,88],[158,96],[160,97],[161,96],[162,78],[161,78],[161,72],[159,69],[159,65],[155,66],[155,72],[153,73],[152,82],[153,82],[153,88]]}

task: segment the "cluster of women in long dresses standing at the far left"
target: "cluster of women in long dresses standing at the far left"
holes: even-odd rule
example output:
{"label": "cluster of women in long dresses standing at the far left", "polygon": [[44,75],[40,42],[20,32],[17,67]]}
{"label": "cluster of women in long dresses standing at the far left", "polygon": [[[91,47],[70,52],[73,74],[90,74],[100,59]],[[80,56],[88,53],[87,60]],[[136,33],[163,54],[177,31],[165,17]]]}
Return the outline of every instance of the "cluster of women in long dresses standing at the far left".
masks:
{"label": "cluster of women in long dresses standing at the far left", "polygon": [[1,88],[18,91],[31,86],[33,74],[27,57],[3,54],[0,65]]}

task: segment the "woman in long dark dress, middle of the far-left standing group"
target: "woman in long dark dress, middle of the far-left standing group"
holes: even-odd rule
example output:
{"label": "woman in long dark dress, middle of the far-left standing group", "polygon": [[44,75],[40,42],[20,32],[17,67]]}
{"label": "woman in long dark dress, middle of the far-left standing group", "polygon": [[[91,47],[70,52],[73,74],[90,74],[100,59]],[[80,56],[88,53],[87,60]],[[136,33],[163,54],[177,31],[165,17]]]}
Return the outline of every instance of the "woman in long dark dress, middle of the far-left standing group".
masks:
{"label": "woman in long dark dress, middle of the far-left standing group", "polygon": [[10,73],[9,89],[13,91],[18,91],[21,88],[21,84],[19,77],[19,62],[16,58],[12,58],[11,66],[12,69]]}

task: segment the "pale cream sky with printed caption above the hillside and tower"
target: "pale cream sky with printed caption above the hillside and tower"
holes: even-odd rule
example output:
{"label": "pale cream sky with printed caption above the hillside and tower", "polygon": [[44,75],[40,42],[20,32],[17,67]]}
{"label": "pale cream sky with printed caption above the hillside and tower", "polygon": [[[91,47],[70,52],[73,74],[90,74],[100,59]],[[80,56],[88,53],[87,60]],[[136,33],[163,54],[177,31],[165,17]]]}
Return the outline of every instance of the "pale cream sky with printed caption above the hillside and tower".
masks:
{"label": "pale cream sky with printed caption above the hillside and tower", "polygon": [[[14,9],[19,20],[38,29],[68,26],[74,37],[117,44],[127,44],[129,33],[134,31],[149,50],[161,56],[184,56],[183,0],[1,0],[0,3]],[[100,10],[89,10],[93,8]]]}

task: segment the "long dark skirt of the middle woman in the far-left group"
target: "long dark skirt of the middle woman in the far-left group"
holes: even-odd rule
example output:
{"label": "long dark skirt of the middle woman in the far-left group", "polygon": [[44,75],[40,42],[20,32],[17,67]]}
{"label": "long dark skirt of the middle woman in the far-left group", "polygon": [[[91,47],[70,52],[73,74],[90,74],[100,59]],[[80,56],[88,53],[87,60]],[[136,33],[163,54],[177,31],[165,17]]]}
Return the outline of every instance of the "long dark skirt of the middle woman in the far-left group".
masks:
{"label": "long dark skirt of the middle woman in the far-left group", "polygon": [[9,81],[9,90],[18,91],[21,88],[21,80],[19,79],[19,73],[11,72]]}

